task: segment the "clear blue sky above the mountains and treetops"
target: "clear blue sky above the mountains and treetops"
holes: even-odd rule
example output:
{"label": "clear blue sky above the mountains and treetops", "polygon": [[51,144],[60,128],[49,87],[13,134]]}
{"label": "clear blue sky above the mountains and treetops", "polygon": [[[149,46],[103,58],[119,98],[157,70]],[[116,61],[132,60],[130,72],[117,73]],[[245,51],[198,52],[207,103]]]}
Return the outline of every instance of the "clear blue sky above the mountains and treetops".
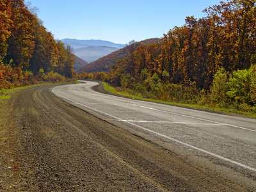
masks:
{"label": "clear blue sky above the mountains and treetops", "polygon": [[220,0],[26,0],[54,38],[130,40],[161,38],[187,16],[206,17],[202,11]]}

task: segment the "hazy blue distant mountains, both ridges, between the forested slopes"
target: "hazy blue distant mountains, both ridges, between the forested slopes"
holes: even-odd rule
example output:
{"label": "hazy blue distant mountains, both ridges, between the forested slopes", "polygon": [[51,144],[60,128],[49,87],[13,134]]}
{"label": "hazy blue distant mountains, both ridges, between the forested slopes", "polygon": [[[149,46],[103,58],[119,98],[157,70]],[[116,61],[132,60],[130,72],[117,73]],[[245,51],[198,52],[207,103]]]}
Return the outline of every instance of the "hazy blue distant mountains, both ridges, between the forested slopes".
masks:
{"label": "hazy blue distant mountains, both ridges, between the forested slopes", "polygon": [[125,44],[115,44],[104,40],[77,40],[65,38],[61,40],[61,42],[73,47],[74,54],[87,63],[91,63],[113,51],[125,47]]}

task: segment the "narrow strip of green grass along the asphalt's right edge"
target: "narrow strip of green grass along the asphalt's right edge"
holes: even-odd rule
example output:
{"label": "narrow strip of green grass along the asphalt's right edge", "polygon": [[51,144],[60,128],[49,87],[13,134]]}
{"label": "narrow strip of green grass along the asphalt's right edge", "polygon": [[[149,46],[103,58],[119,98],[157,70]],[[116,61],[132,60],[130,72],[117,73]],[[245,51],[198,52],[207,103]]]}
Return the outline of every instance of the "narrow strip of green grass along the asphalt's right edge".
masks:
{"label": "narrow strip of green grass along the asphalt's right edge", "polygon": [[127,92],[117,91],[115,88],[110,86],[108,83],[104,83],[104,86],[108,92],[116,93],[118,95],[123,95],[125,97],[131,97],[134,99],[148,100],[151,102],[159,102],[159,103],[163,103],[163,104],[182,106],[184,108],[200,109],[200,110],[204,110],[204,111],[211,111],[214,113],[225,113],[225,114],[229,114],[229,115],[244,115],[244,116],[256,118],[256,114],[253,112],[244,112],[244,111],[239,111],[236,109],[227,109],[227,108],[211,108],[209,106],[200,106],[198,104],[184,104],[184,103],[168,102],[168,101],[156,100],[156,99],[147,99],[147,98],[140,96],[140,94],[131,95]]}

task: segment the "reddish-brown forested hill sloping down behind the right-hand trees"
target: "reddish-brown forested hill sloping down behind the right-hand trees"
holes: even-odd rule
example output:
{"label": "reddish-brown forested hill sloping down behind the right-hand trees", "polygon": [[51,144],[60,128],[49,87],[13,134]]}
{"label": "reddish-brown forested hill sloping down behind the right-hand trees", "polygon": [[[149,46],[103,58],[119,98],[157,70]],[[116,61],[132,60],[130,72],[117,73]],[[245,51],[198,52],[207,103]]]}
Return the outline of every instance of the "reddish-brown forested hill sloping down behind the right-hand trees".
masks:
{"label": "reddish-brown forested hill sloping down behind the right-hand trees", "polygon": [[81,74],[82,72],[109,72],[111,70],[111,66],[115,65],[117,60],[122,60],[126,58],[138,46],[148,45],[160,41],[161,40],[159,38],[150,38],[141,42],[135,42],[134,44],[127,45],[126,47],[119,49],[118,51],[111,52],[111,54],[108,54],[107,56],[99,58],[99,60],[93,61],[92,63],[89,63],[88,65],[77,69],[76,72],[77,74]]}

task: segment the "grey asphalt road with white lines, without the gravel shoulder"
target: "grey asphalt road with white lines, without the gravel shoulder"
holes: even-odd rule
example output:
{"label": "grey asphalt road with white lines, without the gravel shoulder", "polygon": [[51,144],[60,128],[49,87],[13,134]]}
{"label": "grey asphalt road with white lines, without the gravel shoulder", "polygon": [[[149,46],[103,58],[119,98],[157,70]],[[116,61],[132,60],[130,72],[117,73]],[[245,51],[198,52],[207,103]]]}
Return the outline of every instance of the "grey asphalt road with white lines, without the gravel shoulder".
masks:
{"label": "grey asphalt road with white lines, without the gravel shoulder", "polygon": [[126,99],[83,81],[52,88],[65,102],[110,124],[256,189],[256,120]]}

